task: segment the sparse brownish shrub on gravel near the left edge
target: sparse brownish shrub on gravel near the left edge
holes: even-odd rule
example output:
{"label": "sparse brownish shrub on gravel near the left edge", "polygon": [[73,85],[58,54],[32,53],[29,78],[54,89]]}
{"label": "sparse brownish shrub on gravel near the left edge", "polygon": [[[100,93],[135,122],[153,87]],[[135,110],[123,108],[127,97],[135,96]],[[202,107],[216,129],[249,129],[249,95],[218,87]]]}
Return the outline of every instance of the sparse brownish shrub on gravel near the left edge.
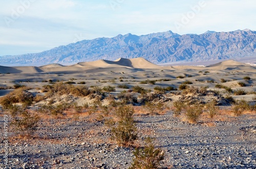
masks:
{"label": "sparse brownish shrub on gravel near the left edge", "polygon": [[36,130],[40,118],[37,115],[31,115],[28,111],[23,111],[19,117],[15,117],[11,122],[16,130],[21,135],[31,135]]}

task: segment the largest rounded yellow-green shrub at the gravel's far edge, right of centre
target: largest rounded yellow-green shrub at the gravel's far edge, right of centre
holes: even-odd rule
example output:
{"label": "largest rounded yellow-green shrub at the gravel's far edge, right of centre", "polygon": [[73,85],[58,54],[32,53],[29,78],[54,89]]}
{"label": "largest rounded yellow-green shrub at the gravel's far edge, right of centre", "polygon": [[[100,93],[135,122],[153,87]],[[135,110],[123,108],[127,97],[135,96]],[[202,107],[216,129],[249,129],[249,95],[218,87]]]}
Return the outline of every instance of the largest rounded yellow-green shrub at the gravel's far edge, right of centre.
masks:
{"label": "largest rounded yellow-green shrub at the gravel's far edge, right of centre", "polygon": [[195,104],[195,105],[188,105],[185,109],[185,116],[190,123],[197,123],[199,117],[203,113],[202,105]]}

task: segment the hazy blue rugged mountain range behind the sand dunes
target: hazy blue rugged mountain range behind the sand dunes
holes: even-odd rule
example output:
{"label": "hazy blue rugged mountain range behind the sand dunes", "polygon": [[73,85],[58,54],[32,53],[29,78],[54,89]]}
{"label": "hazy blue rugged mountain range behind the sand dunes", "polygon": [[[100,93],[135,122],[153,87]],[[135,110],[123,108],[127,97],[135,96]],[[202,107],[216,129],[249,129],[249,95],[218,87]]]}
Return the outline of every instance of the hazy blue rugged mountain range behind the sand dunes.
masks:
{"label": "hazy blue rugged mountain range behind the sand dunes", "polygon": [[178,35],[172,31],[142,36],[132,34],[113,38],[83,40],[40,53],[1,57],[1,65],[47,65],[117,60],[142,57],[154,64],[177,61],[211,61],[256,57],[256,31],[207,31]]}

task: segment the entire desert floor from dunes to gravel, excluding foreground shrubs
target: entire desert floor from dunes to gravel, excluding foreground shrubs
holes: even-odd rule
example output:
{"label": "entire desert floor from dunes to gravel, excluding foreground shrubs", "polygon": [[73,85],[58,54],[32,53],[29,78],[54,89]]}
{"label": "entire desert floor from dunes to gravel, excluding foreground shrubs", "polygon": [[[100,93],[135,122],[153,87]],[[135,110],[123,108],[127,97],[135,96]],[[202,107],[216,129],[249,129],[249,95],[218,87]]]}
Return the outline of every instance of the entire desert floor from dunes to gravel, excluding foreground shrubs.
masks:
{"label": "entire desert floor from dunes to gravel, excluding foreground shrubs", "polygon": [[[255,66],[232,60],[206,67],[158,66],[120,58],[71,66],[0,66],[0,73],[1,168],[129,168],[134,149],[143,148],[146,137],[164,152],[161,168],[256,168]],[[75,90],[79,87],[83,91]],[[84,89],[93,92],[84,94]],[[8,97],[16,99],[11,107],[39,117],[33,134],[12,125],[23,116],[13,116],[3,105]],[[212,101],[217,109],[210,118],[207,103]],[[191,122],[185,109],[175,114],[175,103],[200,104],[203,112]],[[54,111],[62,105],[61,112]],[[138,134],[132,145],[121,146],[105,123],[118,106],[128,105]]]}

